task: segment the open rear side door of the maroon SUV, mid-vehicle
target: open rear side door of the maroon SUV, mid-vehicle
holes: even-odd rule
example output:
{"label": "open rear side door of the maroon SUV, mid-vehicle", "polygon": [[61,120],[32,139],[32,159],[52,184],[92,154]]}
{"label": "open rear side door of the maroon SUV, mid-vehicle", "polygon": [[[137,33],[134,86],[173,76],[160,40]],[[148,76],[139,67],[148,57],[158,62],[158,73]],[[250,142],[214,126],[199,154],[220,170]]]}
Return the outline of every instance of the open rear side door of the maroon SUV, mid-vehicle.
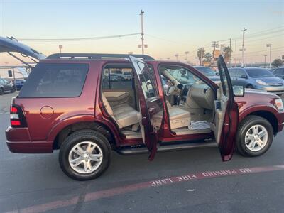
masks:
{"label": "open rear side door of the maroon SUV, mid-vehicle", "polygon": [[[148,88],[148,85],[150,83],[153,84],[154,82],[152,82],[151,79],[147,80],[147,78],[145,77],[145,75],[150,73],[146,62],[133,56],[129,56],[129,59],[134,68],[133,72],[135,73],[135,77],[138,82],[137,94],[139,97],[139,108],[141,112],[140,128],[142,139],[143,143],[150,151],[148,159],[153,160],[155,153],[157,152],[158,137],[157,134],[153,131],[153,126],[151,124],[151,115],[149,113],[150,110],[148,107],[149,93],[151,92],[151,89]],[[151,82],[148,82],[149,80]]]}

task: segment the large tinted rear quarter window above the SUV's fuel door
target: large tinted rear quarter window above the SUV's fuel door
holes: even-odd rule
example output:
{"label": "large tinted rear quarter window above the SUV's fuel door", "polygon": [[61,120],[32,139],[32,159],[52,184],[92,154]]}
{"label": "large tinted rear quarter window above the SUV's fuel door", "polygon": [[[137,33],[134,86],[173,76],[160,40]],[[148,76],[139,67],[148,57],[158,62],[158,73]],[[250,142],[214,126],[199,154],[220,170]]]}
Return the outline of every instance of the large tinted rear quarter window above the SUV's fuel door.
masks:
{"label": "large tinted rear quarter window above the SUV's fuel door", "polygon": [[19,97],[78,97],[89,70],[86,64],[39,63]]}

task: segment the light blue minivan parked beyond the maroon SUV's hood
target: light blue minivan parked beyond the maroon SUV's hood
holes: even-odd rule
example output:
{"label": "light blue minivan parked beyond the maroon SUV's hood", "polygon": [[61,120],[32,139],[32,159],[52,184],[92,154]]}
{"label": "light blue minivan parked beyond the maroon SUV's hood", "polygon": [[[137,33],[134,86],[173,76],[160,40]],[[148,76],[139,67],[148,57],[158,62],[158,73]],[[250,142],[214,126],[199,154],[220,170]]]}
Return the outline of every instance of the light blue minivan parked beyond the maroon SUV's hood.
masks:
{"label": "light blue minivan parked beyond the maroon SUV's hood", "polygon": [[259,67],[230,68],[229,73],[233,85],[241,85],[251,89],[261,89],[275,94],[284,93],[283,80],[272,72]]}

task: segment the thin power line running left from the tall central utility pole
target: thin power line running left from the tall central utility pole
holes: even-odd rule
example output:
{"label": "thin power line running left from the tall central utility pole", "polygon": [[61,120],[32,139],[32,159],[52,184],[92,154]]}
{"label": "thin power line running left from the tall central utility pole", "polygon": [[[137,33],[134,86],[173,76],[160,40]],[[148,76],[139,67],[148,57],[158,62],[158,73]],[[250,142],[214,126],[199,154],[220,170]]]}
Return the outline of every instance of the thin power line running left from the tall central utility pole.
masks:
{"label": "thin power line running left from the tall central utility pole", "polygon": [[108,36],[98,36],[98,37],[86,37],[86,38],[18,38],[18,40],[26,41],[40,41],[40,42],[55,42],[55,41],[79,41],[79,40],[99,40],[107,38],[122,38],[132,35],[140,35],[141,33],[130,33],[123,35],[108,35]]}

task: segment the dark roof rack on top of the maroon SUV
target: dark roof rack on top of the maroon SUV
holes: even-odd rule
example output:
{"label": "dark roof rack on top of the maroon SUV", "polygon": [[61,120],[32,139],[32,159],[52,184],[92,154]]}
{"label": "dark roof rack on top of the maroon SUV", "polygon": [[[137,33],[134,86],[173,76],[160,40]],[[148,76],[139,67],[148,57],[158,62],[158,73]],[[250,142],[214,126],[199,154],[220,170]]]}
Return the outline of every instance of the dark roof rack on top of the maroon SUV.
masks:
{"label": "dark roof rack on top of the maroon SUV", "polygon": [[[143,60],[155,60],[149,55],[131,55]],[[47,59],[105,59],[105,58],[129,58],[129,54],[111,54],[111,53],[55,53],[49,55]]]}

